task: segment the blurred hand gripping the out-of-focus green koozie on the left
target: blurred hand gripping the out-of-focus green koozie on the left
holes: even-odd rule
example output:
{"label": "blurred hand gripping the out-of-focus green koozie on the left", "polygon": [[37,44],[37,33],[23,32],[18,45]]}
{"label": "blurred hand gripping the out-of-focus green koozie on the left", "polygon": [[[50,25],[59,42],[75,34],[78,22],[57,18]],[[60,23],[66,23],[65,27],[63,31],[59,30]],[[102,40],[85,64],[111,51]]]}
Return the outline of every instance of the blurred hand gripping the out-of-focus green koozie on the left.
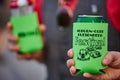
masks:
{"label": "blurred hand gripping the out-of-focus green koozie on the left", "polygon": [[[12,24],[10,22],[8,23],[7,28],[10,30],[10,32],[12,34]],[[43,36],[43,42],[45,43],[44,33],[46,31],[46,26],[44,24],[41,24],[39,29],[40,29],[42,36]],[[16,43],[18,40],[19,40],[19,38],[15,37],[13,35],[11,35],[9,38],[9,42],[11,42],[11,43]],[[9,49],[11,51],[17,52],[17,53],[20,51],[20,47],[17,45],[12,45],[9,47]],[[36,60],[43,62],[43,58],[44,58],[43,51],[38,51],[38,52],[35,52],[33,54],[25,54],[25,55],[20,55],[19,53],[17,54],[17,59],[27,59],[27,60],[36,59]]]}

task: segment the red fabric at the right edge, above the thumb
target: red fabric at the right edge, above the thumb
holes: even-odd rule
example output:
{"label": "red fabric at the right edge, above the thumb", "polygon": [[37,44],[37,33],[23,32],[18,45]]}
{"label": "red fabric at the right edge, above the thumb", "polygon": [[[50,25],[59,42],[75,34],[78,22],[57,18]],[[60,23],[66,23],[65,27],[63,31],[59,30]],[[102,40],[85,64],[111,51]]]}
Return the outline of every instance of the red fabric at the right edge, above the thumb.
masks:
{"label": "red fabric at the right edge, above the thumb", "polygon": [[107,0],[106,5],[108,17],[115,28],[120,31],[120,0]]}

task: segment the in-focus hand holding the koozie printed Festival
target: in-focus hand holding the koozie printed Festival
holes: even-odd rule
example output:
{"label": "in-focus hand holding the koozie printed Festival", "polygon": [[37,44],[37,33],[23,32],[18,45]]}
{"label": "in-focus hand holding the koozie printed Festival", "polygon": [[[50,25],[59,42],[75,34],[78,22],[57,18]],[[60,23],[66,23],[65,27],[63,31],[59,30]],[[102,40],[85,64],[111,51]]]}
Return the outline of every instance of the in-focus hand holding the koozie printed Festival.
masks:
{"label": "in-focus hand holding the koozie printed Festival", "polygon": [[[70,49],[67,54],[70,58],[73,58],[74,56],[72,49]],[[95,75],[84,73],[83,76],[87,78],[92,78],[94,80],[120,80],[120,52],[108,52],[108,54],[104,57],[102,63],[108,66],[108,68],[103,70],[105,74]],[[70,73],[72,75],[75,75],[76,73],[76,68],[74,67],[74,65],[75,62],[73,59],[67,60],[67,66],[70,68]]]}

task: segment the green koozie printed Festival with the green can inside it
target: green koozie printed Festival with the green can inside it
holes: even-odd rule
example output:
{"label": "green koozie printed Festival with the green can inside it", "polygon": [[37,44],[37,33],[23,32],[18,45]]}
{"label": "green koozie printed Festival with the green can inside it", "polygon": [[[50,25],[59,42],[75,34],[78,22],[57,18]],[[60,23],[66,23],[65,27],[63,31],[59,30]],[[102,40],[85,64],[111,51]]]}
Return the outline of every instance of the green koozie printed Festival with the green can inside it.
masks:
{"label": "green koozie printed Festival with the green can inside it", "polygon": [[89,72],[102,74],[102,59],[107,53],[108,24],[102,16],[78,17],[73,24],[73,51],[76,75]]}

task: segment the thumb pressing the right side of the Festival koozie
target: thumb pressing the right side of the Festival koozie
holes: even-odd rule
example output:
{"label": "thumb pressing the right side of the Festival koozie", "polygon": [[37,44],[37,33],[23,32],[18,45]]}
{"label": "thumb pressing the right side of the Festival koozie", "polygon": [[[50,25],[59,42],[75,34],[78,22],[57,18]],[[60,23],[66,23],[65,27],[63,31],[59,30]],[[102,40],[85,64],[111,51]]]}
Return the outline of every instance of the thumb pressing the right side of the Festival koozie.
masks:
{"label": "thumb pressing the right side of the Festival koozie", "polygon": [[120,68],[120,52],[108,52],[103,59],[103,64],[112,68]]}

